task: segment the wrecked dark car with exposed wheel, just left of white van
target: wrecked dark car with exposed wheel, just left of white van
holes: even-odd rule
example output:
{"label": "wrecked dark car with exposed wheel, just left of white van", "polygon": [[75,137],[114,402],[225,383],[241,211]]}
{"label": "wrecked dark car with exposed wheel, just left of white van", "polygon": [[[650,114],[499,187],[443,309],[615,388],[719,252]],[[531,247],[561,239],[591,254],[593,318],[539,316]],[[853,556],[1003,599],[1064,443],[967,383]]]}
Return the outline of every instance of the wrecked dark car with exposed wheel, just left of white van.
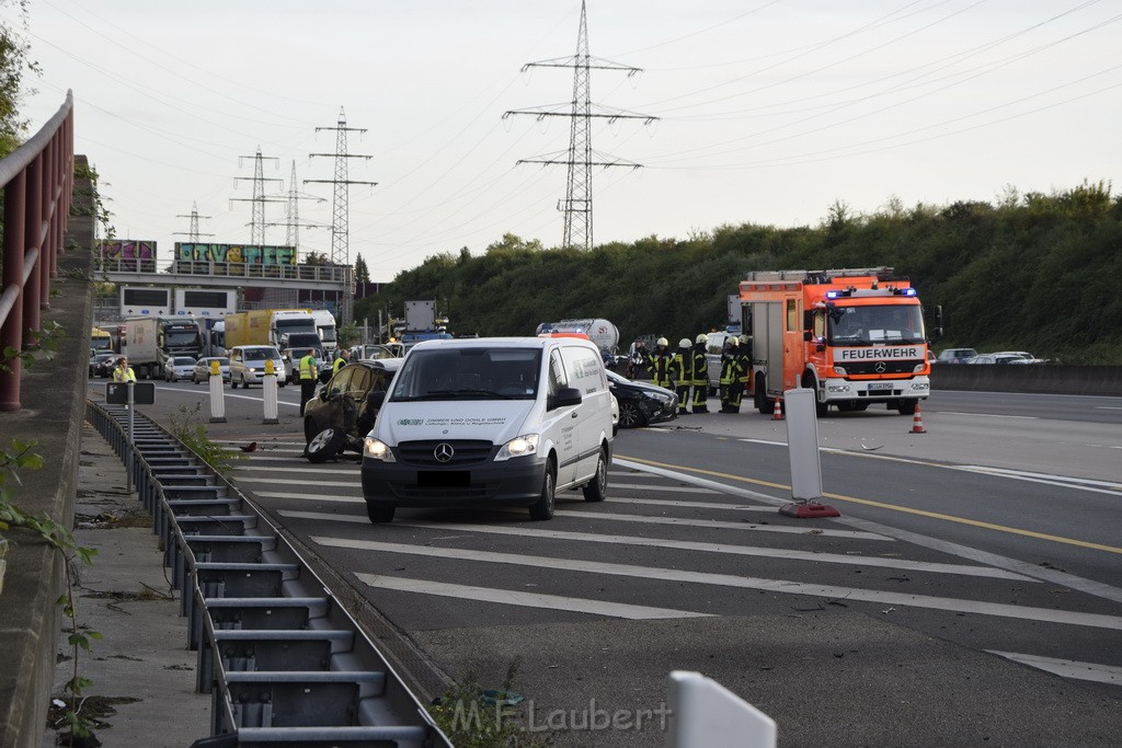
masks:
{"label": "wrecked dark car with exposed wheel, just left of white van", "polygon": [[304,456],[325,462],[344,450],[361,454],[362,437],[378,415],[375,393],[385,394],[401,359],[370,359],[342,367],[304,405]]}

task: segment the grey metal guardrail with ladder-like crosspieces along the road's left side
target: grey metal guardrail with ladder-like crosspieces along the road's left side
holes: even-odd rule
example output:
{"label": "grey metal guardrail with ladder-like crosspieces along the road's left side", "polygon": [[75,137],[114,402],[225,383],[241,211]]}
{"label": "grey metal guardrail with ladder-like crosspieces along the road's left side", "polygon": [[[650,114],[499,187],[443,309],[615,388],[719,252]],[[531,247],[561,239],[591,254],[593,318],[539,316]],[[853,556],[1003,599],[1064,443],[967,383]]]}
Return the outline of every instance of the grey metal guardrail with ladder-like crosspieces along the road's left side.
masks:
{"label": "grey metal guardrail with ladder-like crosspieces along the road's left side", "polygon": [[181,593],[203,746],[451,746],[421,702],[269,520],[147,417],[88,405],[130,471]]}

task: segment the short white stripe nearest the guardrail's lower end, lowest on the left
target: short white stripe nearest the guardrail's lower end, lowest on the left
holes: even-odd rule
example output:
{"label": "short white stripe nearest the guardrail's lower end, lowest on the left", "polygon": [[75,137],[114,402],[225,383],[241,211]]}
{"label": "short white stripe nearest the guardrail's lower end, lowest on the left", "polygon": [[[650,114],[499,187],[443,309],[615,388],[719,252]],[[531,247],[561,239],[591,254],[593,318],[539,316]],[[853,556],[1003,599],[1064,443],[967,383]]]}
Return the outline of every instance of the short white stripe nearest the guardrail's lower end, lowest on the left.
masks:
{"label": "short white stripe nearest the guardrail's lower end, lowest on the left", "polygon": [[708,618],[712,616],[712,613],[698,613],[689,610],[674,610],[673,608],[629,606],[624,602],[565,598],[558,594],[544,594],[541,592],[515,592],[512,590],[471,587],[468,584],[448,584],[447,582],[430,582],[422,579],[386,576],[385,574],[365,574],[361,572],[355,572],[355,576],[357,576],[361,582],[380,590],[435,594],[442,598],[478,600],[479,602],[497,602],[504,606],[519,606],[523,608],[571,610],[578,613],[610,616],[613,618],[628,618],[631,620],[653,620],[656,618]]}

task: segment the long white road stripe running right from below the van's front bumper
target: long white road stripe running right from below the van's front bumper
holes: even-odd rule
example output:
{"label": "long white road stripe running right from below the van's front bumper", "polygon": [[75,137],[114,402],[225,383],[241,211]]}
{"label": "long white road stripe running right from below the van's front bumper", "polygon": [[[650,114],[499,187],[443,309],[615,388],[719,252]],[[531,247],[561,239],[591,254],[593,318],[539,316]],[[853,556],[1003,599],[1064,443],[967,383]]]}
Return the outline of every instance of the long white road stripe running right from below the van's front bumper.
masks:
{"label": "long white road stripe running right from below the van's front bumper", "polygon": [[939,564],[926,561],[904,561],[902,558],[880,558],[876,556],[857,556],[840,553],[815,553],[812,551],[791,551],[788,548],[764,548],[749,545],[728,545],[724,543],[699,543],[696,541],[671,541],[657,537],[633,537],[629,535],[596,535],[592,533],[572,533],[567,530],[530,529],[527,527],[503,527],[499,525],[471,525],[467,523],[411,523],[398,521],[406,527],[426,529],[456,530],[480,533],[486,535],[515,535],[518,537],[540,537],[550,541],[574,541],[579,543],[607,543],[610,545],[640,545],[655,548],[674,548],[675,551],[700,551],[733,556],[760,556],[764,558],[781,558],[788,561],[812,561],[829,564],[847,564],[853,566],[877,566],[881,569],[904,570],[911,572],[930,572],[935,574],[959,574],[965,576],[987,576],[991,579],[1011,579],[1022,582],[1037,580],[1021,574],[1014,574],[990,566],[964,566],[962,564]]}

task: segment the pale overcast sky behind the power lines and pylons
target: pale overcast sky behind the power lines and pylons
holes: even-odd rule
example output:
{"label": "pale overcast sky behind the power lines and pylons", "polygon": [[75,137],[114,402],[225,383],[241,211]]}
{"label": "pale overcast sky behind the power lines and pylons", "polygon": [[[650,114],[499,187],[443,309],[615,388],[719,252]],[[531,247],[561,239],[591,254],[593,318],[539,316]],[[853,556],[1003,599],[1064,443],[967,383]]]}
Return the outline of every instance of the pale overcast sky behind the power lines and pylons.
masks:
{"label": "pale overcast sky behind the power lines and pylons", "polygon": [[[9,6],[0,12],[13,12]],[[346,118],[350,260],[371,279],[512,233],[563,243],[580,0],[29,0],[37,130],[74,94],[75,153],[119,238],[331,255]],[[10,19],[9,19],[10,20]],[[996,203],[1122,166],[1118,0],[588,0],[594,243],[831,206]],[[595,62],[595,61],[594,61]],[[646,119],[651,118],[651,119]],[[321,129],[318,129],[321,128]],[[327,154],[327,156],[311,156]],[[296,181],[292,174],[295,168]]]}

